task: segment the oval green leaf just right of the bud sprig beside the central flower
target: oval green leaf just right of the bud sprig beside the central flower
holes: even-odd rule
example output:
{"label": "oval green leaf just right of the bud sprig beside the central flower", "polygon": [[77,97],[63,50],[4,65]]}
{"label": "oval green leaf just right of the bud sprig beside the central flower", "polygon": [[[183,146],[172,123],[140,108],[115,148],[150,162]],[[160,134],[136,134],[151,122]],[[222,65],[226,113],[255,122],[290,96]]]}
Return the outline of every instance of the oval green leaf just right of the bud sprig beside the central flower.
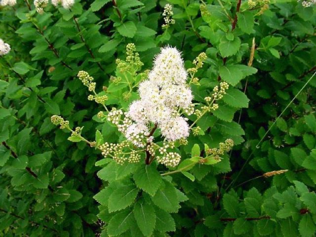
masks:
{"label": "oval green leaf just right of the bud sprig beside the central flower", "polygon": [[223,96],[223,101],[235,108],[248,108],[249,99],[238,89],[230,87]]}

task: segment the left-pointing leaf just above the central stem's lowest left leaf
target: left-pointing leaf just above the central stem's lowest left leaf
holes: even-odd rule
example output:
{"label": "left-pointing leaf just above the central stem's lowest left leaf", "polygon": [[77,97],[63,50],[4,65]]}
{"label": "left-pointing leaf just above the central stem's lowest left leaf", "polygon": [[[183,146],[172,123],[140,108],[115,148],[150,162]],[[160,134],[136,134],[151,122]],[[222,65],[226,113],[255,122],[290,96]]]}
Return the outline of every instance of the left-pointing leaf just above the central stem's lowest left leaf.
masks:
{"label": "left-pointing leaf just above the central stem's lowest left leaf", "polygon": [[138,189],[133,185],[121,186],[109,197],[109,212],[118,211],[131,205],[138,194]]}

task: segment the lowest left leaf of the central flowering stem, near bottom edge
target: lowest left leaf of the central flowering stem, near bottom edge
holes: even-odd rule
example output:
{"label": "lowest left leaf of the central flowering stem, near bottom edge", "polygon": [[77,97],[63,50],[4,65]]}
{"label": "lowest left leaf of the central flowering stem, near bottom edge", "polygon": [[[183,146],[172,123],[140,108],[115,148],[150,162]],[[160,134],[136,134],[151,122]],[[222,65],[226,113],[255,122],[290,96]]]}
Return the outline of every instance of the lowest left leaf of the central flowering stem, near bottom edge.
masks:
{"label": "lowest left leaf of the central flowering stem, near bottom edge", "polygon": [[108,224],[108,234],[117,236],[126,232],[134,224],[132,210],[124,210],[111,218]]}

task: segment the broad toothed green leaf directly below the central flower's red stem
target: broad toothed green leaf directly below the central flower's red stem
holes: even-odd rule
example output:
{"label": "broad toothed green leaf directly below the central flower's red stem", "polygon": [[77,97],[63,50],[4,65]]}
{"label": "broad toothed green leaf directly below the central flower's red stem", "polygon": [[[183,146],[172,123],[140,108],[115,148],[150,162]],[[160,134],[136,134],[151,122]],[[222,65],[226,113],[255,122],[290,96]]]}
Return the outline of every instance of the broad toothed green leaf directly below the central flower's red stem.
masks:
{"label": "broad toothed green leaf directly below the central flower's red stem", "polygon": [[155,165],[141,166],[133,175],[133,179],[138,188],[154,196],[162,182],[161,176]]}

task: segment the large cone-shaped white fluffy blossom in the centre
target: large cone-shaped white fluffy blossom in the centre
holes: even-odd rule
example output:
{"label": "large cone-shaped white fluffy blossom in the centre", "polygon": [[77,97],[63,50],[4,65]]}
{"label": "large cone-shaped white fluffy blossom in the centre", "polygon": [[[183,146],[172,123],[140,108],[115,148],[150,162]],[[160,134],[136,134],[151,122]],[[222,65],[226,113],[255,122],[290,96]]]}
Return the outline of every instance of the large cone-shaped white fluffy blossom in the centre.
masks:
{"label": "large cone-shaped white fluffy blossom in the centre", "polygon": [[126,129],[125,135],[148,136],[149,125],[153,123],[168,141],[186,138],[189,136],[189,125],[178,111],[192,107],[193,96],[186,84],[187,72],[181,54],[176,48],[162,48],[154,64],[149,79],[139,85],[140,100],[134,101],[126,113],[133,123]]}

